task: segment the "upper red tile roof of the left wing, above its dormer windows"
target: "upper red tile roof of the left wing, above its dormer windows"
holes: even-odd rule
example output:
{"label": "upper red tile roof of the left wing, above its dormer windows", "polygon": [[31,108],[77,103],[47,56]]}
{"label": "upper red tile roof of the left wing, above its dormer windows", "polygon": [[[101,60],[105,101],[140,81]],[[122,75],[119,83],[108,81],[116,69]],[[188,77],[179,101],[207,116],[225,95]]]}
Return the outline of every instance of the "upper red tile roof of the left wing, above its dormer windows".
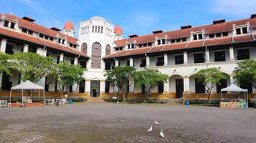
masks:
{"label": "upper red tile roof of the left wing, above its dormer windows", "polygon": [[65,37],[65,38],[67,38],[68,43],[72,43],[72,44],[78,45],[78,43],[77,43],[78,39],[73,38],[72,36],[68,36],[68,35],[60,33],[58,31],[54,31],[52,29],[48,29],[48,28],[46,28],[44,26],[40,26],[38,24],[35,24],[33,22],[21,19],[21,18],[19,18],[17,16],[11,15],[11,14],[1,14],[0,13],[0,17],[1,16],[6,16],[9,19],[13,19],[13,20],[19,21],[18,22],[19,27],[22,27],[22,28],[25,28],[25,29],[29,29],[29,30],[32,30],[32,31],[35,31],[35,32],[40,32],[41,34],[45,34],[47,36],[52,36],[54,38],[58,38],[57,35],[59,34],[59,35]]}

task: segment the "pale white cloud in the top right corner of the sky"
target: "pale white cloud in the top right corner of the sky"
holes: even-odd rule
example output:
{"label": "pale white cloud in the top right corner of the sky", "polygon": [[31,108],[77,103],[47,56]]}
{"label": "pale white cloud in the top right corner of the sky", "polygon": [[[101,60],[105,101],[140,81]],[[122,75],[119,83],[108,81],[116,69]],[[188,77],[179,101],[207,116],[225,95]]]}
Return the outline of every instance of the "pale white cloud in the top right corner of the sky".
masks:
{"label": "pale white cloud in the top right corner of the sky", "polygon": [[217,14],[248,16],[256,12],[256,0],[214,0],[209,9]]}

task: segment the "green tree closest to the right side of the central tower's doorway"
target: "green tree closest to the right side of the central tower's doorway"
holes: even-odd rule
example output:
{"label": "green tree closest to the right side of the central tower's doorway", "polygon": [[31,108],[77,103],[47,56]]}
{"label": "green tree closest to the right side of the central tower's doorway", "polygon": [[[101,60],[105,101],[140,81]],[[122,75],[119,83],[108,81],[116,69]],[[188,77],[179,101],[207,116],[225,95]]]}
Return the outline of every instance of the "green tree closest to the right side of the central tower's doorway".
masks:
{"label": "green tree closest to the right side of the central tower's doorway", "polygon": [[136,69],[132,66],[117,66],[114,69],[106,71],[106,74],[104,74],[109,83],[119,87],[124,101],[126,101],[127,90],[133,84],[132,74],[134,71],[136,71]]}

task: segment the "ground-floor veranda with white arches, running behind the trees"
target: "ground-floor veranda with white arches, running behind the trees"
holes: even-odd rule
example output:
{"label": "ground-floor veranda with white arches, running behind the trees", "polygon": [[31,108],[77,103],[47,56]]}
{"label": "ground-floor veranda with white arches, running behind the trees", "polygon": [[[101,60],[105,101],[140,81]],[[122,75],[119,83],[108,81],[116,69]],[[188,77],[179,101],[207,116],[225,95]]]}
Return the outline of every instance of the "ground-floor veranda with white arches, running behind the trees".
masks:
{"label": "ground-floor veranda with white arches, running behind the trees", "polygon": [[[231,83],[234,82],[232,74],[224,73],[224,80],[221,80],[221,83],[216,85],[212,91],[212,99],[220,98],[220,89],[228,87]],[[11,87],[17,85],[19,81],[19,75],[17,73],[13,73],[11,77],[5,77],[3,74],[1,77],[1,89],[6,87]],[[6,81],[6,79],[8,79]],[[6,85],[12,84],[12,85]],[[55,82],[54,79],[42,79],[39,83],[42,87],[45,87],[45,97],[46,98],[62,98],[64,97],[63,92],[60,91],[58,86],[58,82]],[[248,85],[240,85],[242,88],[248,89],[250,95],[249,98],[255,98],[256,93],[255,89],[252,87],[248,87]],[[145,98],[145,94],[143,94],[143,87],[138,87],[136,83],[132,84],[127,91],[127,98]],[[152,94],[150,97],[155,99],[169,99],[169,98],[186,98],[186,99],[206,99],[207,94],[204,92],[204,86],[202,86],[196,79],[193,77],[183,76],[182,74],[173,74],[169,77],[168,81],[165,83],[158,84],[154,89],[152,89]],[[239,93],[227,93],[224,94],[224,97],[234,98],[234,94],[239,95],[240,98],[243,98],[243,94]],[[13,92],[12,96],[20,97],[21,92]],[[26,94],[24,94],[26,95]],[[38,92],[32,94],[35,98],[40,97]],[[91,80],[82,80],[80,84],[76,84],[70,86],[69,97],[101,97],[101,98],[111,98],[114,96],[122,97],[119,93],[118,88],[114,88],[109,82],[100,79],[91,79]],[[0,98],[9,99],[9,90],[1,90]],[[42,97],[42,93],[41,93]]]}

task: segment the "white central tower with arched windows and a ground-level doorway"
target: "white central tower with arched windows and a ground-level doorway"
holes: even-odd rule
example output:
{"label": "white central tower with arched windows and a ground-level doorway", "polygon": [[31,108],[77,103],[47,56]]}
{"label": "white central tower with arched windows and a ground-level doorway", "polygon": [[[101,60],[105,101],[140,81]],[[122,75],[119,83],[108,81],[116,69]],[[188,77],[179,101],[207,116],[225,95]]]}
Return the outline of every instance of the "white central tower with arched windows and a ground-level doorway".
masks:
{"label": "white central tower with arched windows and a ground-level doorway", "polygon": [[104,56],[111,54],[116,39],[114,25],[100,16],[81,21],[78,30],[78,42],[81,51],[91,57],[87,61],[83,77],[86,79],[86,92],[90,97],[99,97],[105,92]]}

